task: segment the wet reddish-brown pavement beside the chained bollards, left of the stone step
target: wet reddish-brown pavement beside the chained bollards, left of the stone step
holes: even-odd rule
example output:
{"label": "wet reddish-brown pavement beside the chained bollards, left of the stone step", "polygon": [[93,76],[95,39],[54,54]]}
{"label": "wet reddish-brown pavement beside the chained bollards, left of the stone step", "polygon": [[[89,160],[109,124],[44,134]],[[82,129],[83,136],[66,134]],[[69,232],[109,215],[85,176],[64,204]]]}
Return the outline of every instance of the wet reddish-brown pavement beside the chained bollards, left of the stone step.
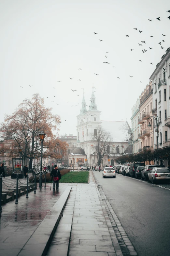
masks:
{"label": "wet reddish-brown pavement beside the chained bollards, left of the stone step", "polygon": [[[44,218],[51,214],[52,207],[68,186],[60,185],[59,191],[50,190],[50,184],[47,184],[46,187],[46,190],[43,187],[42,191],[37,189],[36,194],[30,192],[29,198],[19,197],[18,204],[12,201],[2,207],[3,212],[0,218],[1,256],[17,256],[19,254]],[[48,233],[48,227],[43,225],[37,236],[42,236],[43,240],[44,233]],[[36,238],[35,243],[37,243]],[[28,247],[32,247],[32,245]],[[37,248],[35,247],[35,252]]]}

